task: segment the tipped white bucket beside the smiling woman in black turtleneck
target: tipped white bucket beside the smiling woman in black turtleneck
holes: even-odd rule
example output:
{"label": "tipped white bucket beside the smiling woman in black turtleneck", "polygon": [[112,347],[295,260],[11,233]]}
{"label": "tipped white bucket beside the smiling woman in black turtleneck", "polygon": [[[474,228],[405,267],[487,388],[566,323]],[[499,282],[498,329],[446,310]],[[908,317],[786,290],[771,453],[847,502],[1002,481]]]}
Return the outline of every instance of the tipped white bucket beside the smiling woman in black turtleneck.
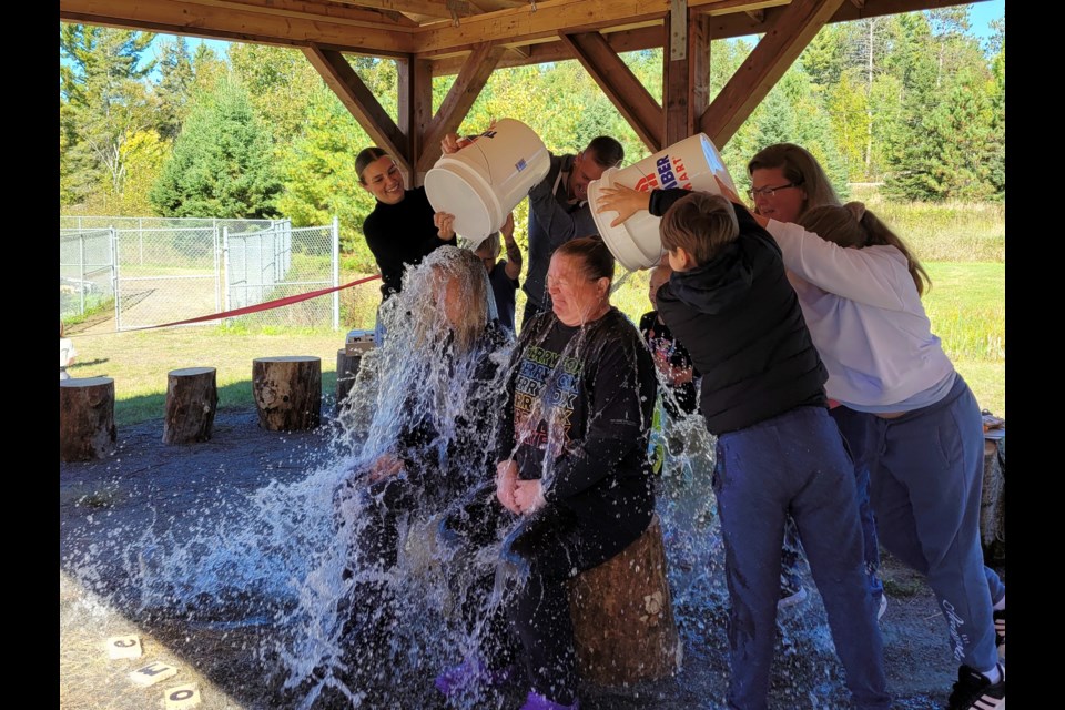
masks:
{"label": "tipped white bucket beside the smiling woman in black turtleneck", "polygon": [[425,193],[434,210],[455,215],[455,232],[477,248],[550,166],[550,154],[532,129],[500,119],[469,145],[436,161],[425,175]]}

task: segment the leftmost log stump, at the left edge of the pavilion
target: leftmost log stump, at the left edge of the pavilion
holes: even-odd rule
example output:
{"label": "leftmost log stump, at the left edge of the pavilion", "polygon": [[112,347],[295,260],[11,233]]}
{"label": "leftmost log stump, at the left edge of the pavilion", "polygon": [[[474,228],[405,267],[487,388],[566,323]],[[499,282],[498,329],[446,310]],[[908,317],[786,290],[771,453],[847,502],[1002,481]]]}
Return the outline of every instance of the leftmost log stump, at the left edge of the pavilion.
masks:
{"label": "leftmost log stump, at the left edge of the pavilion", "polygon": [[59,460],[88,462],[114,450],[114,379],[72,377],[59,383]]}

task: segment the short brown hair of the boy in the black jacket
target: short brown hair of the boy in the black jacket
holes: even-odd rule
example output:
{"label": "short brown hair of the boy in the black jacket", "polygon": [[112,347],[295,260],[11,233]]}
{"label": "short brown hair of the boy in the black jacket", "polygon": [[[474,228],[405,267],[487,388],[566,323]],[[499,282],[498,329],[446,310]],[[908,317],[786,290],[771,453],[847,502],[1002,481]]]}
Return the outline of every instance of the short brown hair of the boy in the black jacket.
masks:
{"label": "short brown hair of the boy in the black jacket", "polygon": [[740,224],[732,203],[721,195],[692,192],[673,203],[659,223],[662,246],[678,247],[702,265],[717,256],[726,244],[736,241]]}

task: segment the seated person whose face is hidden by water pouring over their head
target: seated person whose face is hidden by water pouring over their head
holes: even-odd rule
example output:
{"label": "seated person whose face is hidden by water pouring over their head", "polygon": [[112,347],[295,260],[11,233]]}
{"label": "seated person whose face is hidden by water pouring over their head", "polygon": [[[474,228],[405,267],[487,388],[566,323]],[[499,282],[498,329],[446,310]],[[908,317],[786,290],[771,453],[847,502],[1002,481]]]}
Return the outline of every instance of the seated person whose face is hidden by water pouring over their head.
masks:
{"label": "seated person whose face is hidden by water pouring over their head", "polygon": [[427,520],[491,480],[484,433],[500,404],[509,338],[490,316],[484,266],[468,250],[442,247],[407,272],[395,298],[389,336],[364,358],[373,372],[353,392],[353,409],[372,415],[335,496],[349,545],[345,578],[354,578],[345,636],[387,630],[403,520]]}

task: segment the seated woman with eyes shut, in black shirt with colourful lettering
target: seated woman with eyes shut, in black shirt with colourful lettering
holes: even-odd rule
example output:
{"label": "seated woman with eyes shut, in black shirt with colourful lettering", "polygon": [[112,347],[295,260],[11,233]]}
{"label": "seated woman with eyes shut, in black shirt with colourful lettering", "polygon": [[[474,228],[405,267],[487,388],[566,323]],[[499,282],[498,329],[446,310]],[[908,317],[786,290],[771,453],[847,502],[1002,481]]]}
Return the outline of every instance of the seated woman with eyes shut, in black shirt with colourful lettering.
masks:
{"label": "seated woman with eyes shut, in black shirt with colourful lettering", "polygon": [[[525,710],[577,706],[566,582],[639,538],[655,509],[646,455],[655,365],[610,305],[612,278],[613,257],[598,239],[556,250],[551,311],[523,328],[510,358],[496,515],[517,521],[503,555],[524,574],[504,607],[529,689]],[[498,670],[495,658],[467,660],[437,688],[488,683]]]}

